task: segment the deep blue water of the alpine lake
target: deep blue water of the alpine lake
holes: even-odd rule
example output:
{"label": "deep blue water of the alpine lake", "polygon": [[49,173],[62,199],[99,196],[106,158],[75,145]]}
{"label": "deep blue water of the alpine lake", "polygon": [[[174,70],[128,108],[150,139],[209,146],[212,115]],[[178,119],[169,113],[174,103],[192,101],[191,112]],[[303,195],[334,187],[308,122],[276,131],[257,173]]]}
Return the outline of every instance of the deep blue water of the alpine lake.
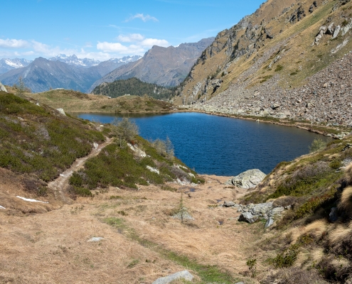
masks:
{"label": "deep blue water of the alpine lake", "polygon": [[[111,114],[79,114],[82,119],[110,123]],[[270,173],[277,163],[309,152],[317,134],[302,129],[192,112],[129,115],[146,139],[165,139],[175,155],[197,173],[238,175],[259,168]]]}

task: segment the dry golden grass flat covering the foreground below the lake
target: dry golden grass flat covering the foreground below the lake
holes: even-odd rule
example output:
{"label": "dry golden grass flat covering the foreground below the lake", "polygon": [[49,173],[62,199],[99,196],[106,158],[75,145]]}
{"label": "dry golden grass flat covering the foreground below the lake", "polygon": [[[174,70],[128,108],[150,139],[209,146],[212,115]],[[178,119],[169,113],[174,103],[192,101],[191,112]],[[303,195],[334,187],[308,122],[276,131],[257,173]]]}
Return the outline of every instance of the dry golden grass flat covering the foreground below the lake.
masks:
{"label": "dry golden grass flat covering the foreground below the lake", "polygon": [[[43,214],[14,216],[10,209],[0,210],[0,283],[151,283],[185,269],[103,222],[111,217],[124,220],[139,239],[246,279],[238,273],[247,271],[255,226],[238,223],[235,209],[208,207],[232,200],[234,190],[224,188],[226,177],[205,178],[195,192],[178,185],[172,185],[178,192],[152,185],[138,191],[110,187],[93,199],[79,197],[76,204]],[[2,193],[17,194],[14,188]],[[181,190],[186,190],[183,202],[193,222],[181,224],[166,214],[178,207]],[[93,236],[104,240],[87,242]]]}

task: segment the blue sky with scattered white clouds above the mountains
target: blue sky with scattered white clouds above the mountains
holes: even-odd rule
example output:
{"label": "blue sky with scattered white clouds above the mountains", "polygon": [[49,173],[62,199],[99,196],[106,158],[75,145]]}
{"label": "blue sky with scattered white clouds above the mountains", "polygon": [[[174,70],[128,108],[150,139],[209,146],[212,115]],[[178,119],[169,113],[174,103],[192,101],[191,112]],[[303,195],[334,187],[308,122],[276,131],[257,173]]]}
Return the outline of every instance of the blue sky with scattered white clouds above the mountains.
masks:
{"label": "blue sky with scattered white clouds above the mountains", "polygon": [[107,60],[193,43],[230,28],[264,0],[2,0],[0,58],[65,53]]}

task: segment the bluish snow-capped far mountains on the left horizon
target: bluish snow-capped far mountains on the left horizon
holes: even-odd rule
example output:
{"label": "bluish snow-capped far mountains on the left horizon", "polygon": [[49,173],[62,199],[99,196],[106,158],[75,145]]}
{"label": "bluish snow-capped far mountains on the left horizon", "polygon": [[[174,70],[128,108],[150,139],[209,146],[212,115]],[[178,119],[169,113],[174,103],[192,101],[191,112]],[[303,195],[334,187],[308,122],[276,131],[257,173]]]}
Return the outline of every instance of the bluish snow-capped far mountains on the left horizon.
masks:
{"label": "bluish snow-capped far mountains on the left horizon", "polygon": [[[58,55],[60,56],[60,55]],[[32,92],[44,92],[52,88],[74,89],[80,92],[87,92],[90,86],[108,72],[119,66],[137,60],[140,56],[128,56],[119,59],[111,59],[98,63],[91,67],[79,65],[80,60],[74,61],[75,55],[70,57],[60,57],[61,60],[47,60],[46,58],[36,58],[25,67],[12,69],[0,75],[3,84],[12,86],[18,83],[18,78],[22,77],[23,83]],[[59,59],[56,57],[56,59]],[[62,60],[67,59],[70,65]],[[78,59],[78,58],[77,58]],[[85,58],[87,59],[87,58]],[[81,62],[92,61],[82,60]],[[96,63],[97,61],[95,61]],[[95,64],[94,63],[94,64]]]}

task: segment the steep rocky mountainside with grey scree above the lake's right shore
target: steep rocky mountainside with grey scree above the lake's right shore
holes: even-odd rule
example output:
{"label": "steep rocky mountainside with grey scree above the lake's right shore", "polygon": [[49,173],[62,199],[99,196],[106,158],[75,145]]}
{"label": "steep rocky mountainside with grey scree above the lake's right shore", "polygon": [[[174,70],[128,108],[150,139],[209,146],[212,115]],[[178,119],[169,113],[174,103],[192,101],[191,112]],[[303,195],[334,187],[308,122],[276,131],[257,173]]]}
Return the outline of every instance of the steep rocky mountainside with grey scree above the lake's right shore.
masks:
{"label": "steep rocky mountainside with grey scree above the lake's right shore", "polygon": [[352,3],[269,0],[217,35],[176,104],[351,125]]}

